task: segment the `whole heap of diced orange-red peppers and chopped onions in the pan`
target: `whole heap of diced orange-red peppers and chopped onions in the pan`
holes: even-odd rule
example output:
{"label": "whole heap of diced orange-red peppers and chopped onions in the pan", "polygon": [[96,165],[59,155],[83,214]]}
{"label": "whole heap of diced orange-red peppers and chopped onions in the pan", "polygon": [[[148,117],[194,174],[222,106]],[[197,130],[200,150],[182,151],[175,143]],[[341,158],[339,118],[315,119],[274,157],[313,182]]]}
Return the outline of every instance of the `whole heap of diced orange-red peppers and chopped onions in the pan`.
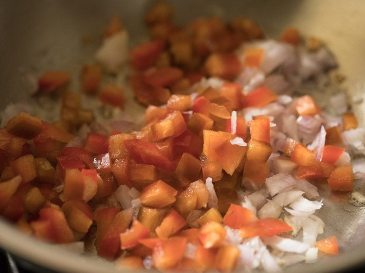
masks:
{"label": "whole heap of diced orange-red peppers and chopped onions in the pan", "polygon": [[[113,17],[81,92],[70,72],[45,71],[35,96],[59,96],[58,119],[32,105],[3,111],[2,217],[128,268],[278,271],[337,255],[336,237],[321,236],[316,185],[353,190],[365,163],[350,154],[365,154],[365,128],[343,93],[322,104],[300,93],[333,84],[332,54],[295,28],[270,39],[247,18],[180,27],[172,17],[155,4],[150,40],[131,50]],[[146,106],[139,128],[123,119],[129,92]]]}

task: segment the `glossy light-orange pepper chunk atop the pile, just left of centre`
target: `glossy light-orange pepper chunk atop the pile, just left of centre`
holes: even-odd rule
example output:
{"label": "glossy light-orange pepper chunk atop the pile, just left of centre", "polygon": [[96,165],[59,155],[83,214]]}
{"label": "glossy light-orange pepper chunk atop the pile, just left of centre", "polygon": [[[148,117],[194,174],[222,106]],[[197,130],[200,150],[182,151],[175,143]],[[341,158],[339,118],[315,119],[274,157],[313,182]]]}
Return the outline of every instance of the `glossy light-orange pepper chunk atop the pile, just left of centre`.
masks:
{"label": "glossy light-orange pepper chunk atop the pile, just left of centre", "polygon": [[152,140],[156,141],[168,136],[179,136],[187,125],[181,112],[173,112],[160,122],[151,125]]}

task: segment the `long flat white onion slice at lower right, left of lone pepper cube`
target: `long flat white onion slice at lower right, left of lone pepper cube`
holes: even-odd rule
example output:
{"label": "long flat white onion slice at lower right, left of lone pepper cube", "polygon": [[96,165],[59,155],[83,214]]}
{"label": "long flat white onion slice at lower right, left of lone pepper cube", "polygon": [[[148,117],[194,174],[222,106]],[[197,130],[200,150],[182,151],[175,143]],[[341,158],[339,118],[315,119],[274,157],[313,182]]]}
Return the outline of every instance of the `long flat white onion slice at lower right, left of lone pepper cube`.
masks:
{"label": "long flat white onion slice at lower right, left of lone pepper cube", "polygon": [[262,241],[278,250],[302,254],[309,248],[308,244],[279,236],[265,237]]}

